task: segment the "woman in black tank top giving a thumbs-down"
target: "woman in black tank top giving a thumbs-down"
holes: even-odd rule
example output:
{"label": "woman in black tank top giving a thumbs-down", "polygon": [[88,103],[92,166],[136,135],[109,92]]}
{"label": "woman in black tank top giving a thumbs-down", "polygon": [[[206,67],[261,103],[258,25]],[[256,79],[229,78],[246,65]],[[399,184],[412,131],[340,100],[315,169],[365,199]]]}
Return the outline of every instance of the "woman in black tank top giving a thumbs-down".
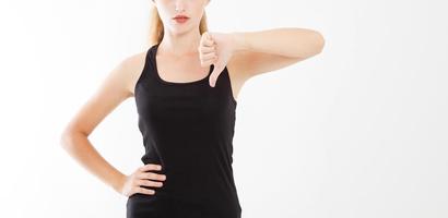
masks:
{"label": "woman in black tank top giving a thumbs-down", "polygon": [[[318,32],[304,28],[209,33],[209,1],[153,0],[150,48],[123,59],[62,134],[72,157],[128,197],[128,218],[240,217],[232,169],[238,92],[323,47]],[[123,174],[87,136],[128,97],[145,154],[143,166]]]}

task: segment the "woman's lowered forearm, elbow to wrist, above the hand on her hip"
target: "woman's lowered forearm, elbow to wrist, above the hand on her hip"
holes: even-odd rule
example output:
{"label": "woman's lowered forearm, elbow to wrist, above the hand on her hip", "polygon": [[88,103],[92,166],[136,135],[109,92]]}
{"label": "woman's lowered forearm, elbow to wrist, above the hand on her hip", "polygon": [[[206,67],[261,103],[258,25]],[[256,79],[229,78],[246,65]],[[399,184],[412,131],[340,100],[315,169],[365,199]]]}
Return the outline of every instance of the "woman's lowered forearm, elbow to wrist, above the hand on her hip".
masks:
{"label": "woman's lowered forearm, elbow to wrist, above the hand on her hip", "polygon": [[107,162],[95,149],[87,136],[82,133],[66,133],[61,138],[62,147],[91,173],[117,192],[126,175]]}

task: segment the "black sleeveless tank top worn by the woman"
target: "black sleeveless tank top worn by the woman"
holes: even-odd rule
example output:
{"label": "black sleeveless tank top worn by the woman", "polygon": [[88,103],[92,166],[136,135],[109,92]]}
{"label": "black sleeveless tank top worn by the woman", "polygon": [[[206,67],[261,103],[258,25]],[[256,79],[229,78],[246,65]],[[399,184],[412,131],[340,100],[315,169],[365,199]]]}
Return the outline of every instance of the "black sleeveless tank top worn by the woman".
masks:
{"label": "black sleeveless tank top worn by the woman", "polygon": [[[158,164],[166,174],[154,195],[128,197],[128,218],[239,218],[233,177],[233,136],[237,101],[227,68],[209,85],[208,75],[192,82],[168,82],[157,72],[152,46],[135,84],[143,164]],[[146,186],[143,186],[146,187]]]}

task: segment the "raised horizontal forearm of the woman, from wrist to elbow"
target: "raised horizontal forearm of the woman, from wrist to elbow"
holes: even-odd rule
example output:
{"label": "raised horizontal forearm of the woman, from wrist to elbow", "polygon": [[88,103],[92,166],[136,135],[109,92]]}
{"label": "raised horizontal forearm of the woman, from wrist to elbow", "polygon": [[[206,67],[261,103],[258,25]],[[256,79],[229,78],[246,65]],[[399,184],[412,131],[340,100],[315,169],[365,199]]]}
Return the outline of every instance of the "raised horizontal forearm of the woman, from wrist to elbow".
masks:
{"label": "raised horizontal forearm of the woman, from wrist to elbow", "polygon": [[307,58],[319,53],[322,35],[306,28],[274,28],[258,32],[234,32],[235,51],[257,51],[285,57]]}

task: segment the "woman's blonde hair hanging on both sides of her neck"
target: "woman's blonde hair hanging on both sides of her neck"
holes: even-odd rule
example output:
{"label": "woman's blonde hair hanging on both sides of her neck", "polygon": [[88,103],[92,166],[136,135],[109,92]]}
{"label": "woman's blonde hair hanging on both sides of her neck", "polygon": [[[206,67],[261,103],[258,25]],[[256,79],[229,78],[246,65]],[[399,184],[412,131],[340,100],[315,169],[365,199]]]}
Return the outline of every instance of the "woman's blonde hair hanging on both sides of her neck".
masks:
{"label": "woman's blonde hair hanging on both sides of her neck", "polygon": [[[150,46],[160,44],[162,41],[163,35],[164,35],[164,27],[163,23],[161,20],[161,16],[158,15],[157,8],[155,5],[152,5],[151,9],[151,15],[150,15],[150,31],[149,31],[149,44]],[[205,11],[203,12],[201,22],[199,24],[199,33],[202,35],[204,32],[208,31],[207,26],[207,14]]]}

